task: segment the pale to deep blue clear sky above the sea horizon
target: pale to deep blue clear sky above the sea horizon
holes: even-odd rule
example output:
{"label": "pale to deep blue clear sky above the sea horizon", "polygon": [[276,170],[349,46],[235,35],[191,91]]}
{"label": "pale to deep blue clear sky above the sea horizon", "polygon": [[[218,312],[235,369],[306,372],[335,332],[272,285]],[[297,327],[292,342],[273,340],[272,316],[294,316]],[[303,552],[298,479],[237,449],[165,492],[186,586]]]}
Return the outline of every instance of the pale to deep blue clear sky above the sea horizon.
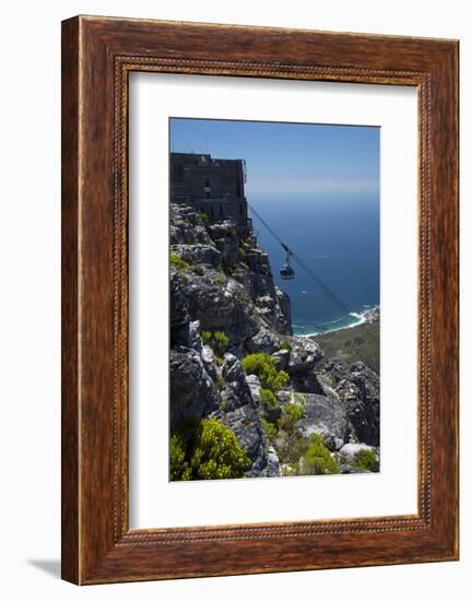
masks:
{"label": "pale to deep blue clear sky above the sea horizon", "polygon": [[170,119],[170,150],[245,158],[246,196],[374,199],[379,128],[212,119]]}

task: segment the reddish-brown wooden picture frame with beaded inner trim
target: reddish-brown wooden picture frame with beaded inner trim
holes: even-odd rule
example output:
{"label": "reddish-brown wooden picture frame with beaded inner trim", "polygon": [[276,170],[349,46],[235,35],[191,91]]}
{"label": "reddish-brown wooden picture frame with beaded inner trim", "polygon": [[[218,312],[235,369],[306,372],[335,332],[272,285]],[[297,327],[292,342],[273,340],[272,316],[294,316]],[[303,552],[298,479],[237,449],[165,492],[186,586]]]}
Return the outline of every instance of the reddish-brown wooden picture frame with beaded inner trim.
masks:
{"label": "reddish-brown wooden picture frame with beaded inner trim", "polygon": [[[129,528],[132,71],[408,85],[419,96],[416,515]],[[458,42],[62,23],[62,577],[79,585],[458,558]]]}

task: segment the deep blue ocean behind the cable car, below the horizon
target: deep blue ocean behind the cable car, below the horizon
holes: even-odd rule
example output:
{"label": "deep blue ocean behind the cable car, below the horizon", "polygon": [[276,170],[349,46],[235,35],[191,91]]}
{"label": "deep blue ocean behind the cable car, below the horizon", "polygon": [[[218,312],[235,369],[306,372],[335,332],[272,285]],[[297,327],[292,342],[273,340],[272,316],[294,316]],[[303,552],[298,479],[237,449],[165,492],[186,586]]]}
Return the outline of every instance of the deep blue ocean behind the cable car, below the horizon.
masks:
{"label": "deep blue ocean behind the cable car, below the horizon", "polygon": [[353,327],[379,306],[377,196],[252,196],[248,202],[340,300],[335,303],[295,261],[295,279],[281,280],[285,251],[249,211],[258,243],[270,255],[275,283],[290,295],[295,335]]}

